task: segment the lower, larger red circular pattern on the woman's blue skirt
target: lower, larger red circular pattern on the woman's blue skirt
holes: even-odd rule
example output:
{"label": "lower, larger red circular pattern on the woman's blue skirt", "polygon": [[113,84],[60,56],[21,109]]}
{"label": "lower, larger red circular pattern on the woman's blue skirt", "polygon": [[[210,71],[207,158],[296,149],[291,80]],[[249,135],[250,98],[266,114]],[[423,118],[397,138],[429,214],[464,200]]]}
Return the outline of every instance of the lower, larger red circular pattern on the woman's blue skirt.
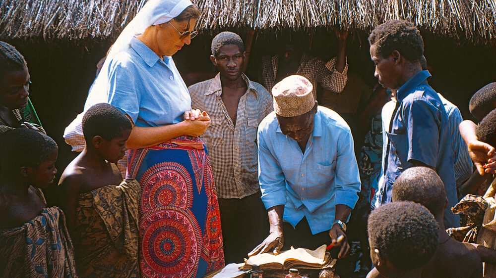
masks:
{"label": "lower, larger red circular pattern on the woman's blue skirt", "polygon": [[[191,277],[196,273],[201,245],[198,223],[189,210],[166,207],[143,218],[141,253],[146,276]],[[143,266],[143,264],[142,264]]]}

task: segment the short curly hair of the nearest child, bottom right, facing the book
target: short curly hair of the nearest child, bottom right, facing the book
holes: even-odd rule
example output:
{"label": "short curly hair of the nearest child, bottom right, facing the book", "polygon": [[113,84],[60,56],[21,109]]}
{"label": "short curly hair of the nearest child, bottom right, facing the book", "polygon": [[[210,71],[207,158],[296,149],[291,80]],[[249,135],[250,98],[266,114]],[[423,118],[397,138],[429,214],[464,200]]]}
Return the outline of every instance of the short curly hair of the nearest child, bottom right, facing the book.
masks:
{"label": "short curly hair of the nearest child, bottom right, facing the book", "polygon": [[414,202],[392,202],[376,208],[369,216],[368,231],[371,249],[378,249],[402,271],[425,266],[439,244],[434,216]]}

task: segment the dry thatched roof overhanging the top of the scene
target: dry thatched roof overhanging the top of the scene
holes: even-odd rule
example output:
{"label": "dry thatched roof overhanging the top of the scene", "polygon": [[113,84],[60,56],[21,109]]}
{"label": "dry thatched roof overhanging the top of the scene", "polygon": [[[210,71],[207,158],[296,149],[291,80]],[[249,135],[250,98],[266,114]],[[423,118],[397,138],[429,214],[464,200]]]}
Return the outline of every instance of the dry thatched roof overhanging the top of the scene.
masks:
{"label": "dry thatched roof overhanging the top of the scene", "polygon": [[[199,30],[227,27],[370,31],[406,19],[434,34],[487,44],[496,37],[495,0],[193,0]],[[115,38],[146,0],[1,0],[0,39]]]}

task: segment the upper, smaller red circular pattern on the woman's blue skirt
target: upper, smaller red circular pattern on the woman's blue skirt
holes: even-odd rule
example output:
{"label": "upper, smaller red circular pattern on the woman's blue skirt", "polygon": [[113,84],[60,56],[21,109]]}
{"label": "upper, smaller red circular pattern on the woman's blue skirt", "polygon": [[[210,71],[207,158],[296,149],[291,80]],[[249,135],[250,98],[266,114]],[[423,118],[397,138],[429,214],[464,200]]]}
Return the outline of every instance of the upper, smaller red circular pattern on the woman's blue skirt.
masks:
{"label": "upper, smaller red circular pattern on the woman's blue skirt", "polygon": [[164,162],[148,169],[139,182],[142,186],[141,213],[163,206],[186,209],[192,200],[193,184],[186,168]]}

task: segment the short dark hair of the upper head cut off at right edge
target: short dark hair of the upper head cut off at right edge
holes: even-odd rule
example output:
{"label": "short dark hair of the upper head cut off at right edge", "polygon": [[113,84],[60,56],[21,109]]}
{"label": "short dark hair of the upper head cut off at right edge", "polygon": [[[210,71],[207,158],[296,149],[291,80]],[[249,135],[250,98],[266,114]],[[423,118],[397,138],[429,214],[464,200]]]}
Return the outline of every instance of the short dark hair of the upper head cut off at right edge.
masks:
{"label": "short dark hair of the upper head cut off at right edge", "polygon": [[496,108],[496,82],[489,83],[475,92],[470,98],[468,108],[478,121],[493,111]]}

